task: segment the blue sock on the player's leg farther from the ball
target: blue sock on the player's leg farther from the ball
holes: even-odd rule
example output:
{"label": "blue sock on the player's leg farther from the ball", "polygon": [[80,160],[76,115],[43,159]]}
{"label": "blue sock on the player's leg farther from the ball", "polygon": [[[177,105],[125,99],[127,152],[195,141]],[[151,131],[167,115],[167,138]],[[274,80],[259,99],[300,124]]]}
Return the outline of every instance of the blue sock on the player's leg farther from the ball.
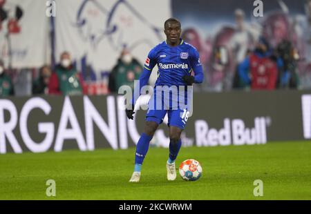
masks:
{"label": "blue sock on the player's leg farther from the ball", "polygon": [[140,172],[142,168],[142,162],[144,162],[144,157],[147,154],[149,148],[149,142],[151,141],[153,136],[146,135],[142,133],[140,136],[140,140],[136,145],[136,153],[135,153],[135,172]]}

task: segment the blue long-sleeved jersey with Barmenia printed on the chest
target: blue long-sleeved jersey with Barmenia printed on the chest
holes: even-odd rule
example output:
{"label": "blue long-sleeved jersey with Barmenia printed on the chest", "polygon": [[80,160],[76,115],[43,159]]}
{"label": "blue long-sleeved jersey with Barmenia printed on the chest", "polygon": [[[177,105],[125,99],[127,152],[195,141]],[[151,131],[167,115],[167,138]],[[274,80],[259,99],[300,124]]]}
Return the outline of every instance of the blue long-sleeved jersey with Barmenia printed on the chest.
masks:
{"label": "blue long-sleeved jersey with Barmenia printed on the chest", "polygon": [[132,104],[140,96],[140,90],[149,81],[152,69],[158,65],[158,79],[155,86],[187,86],[182,80],[185,75],[194,71],[194,81],[203,81],[203,70],[198,51],[194,46],[180,39],[178,46],[169,46],[166,41],[153,48],[145,61],[144,70],[140,76],[140,87],[135,87]]}

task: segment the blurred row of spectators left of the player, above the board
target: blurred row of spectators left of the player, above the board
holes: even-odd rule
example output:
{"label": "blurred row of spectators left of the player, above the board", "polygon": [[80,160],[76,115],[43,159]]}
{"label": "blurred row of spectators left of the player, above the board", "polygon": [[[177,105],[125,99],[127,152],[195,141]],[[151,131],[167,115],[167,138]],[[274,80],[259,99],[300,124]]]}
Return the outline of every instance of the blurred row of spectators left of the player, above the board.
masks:
{"label": "blurred row of spectators left of the player, above the board", "polygon": [[[27,77],[23,74],[30,74],[29,70],[19,71],[15,75],[16,84],[12,83],[12,78],[6,72],[3,61],[0,61],[0,96],[16,95],[15,87],[19,86],[21,93],[19,95],[29,95],[23,93],[28,88]],[[31,94],[32,95],[93,95],[93,84],[84,81],[82,73],[79,72],[71,59],[69,52],[63,52],[59,58],[59,64],[54,69],[45,65],[39,70],[32,70]],[[142,72],[142,66],[137,59],[134,59],[126,48],[122,50],[120,58],[113,67],[109,75],[109,84],[107,90],[101,94],[117,93],[118,88],[122,85],[134,88],[134,79],[139,79]],[[14,76],[14,74],[12,75]],[[23,80],[19,80],[19,79]]]}

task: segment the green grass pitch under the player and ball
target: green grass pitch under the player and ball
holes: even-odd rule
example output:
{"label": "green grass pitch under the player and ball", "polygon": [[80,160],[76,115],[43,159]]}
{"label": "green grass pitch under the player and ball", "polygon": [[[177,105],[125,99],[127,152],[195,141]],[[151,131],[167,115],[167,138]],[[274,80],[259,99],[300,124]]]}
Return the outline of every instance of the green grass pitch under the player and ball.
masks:
{"label": "green grass pitch under the player and ball", "polygon": [[[196,182],[166,180],[168,149],[150,148],[130,184],[134,148],[0,155],[0,200],[311,200],[311,142],[182,148],[176,165],[197,159]],[[46,181],[56,197],[46,196]],[[255,179],[263,197],[254,197]]]}

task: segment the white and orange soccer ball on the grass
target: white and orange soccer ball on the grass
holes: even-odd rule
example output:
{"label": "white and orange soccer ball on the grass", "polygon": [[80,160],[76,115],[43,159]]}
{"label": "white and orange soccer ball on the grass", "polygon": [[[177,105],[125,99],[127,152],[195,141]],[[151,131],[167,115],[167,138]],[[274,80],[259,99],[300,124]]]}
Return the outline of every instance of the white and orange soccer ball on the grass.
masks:
{"label": "white and orange soccer ball on the grass", "polygon": [[202,175],[202,166],[195,159],[187,159],[180,164],[179,174],[185,181],[196,181]]}

